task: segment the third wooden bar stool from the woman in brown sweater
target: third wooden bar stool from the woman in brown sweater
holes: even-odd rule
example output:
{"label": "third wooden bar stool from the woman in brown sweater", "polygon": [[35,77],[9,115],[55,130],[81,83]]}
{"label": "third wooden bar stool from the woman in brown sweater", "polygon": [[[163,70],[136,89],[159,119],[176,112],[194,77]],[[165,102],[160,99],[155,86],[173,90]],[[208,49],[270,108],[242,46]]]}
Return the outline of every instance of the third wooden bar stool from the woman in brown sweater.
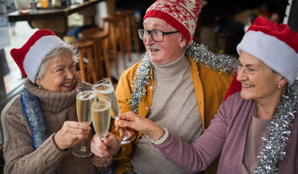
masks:
{"label": "third wooden bar stool from the woman in brown sweater", "polygon": [[[104,24],[107,26],[109,32],[109,44],[108,44],[108,53],[112,54],[114,63],[116,66],[116,73],[119,74],[118,68],[118,53],[122,54],[124,68],[127,69],[126,60],[125,60],[125,46],[124,40],[126,38],[123,29],[125,28],[123,17],[119,15],[113,15],[107,18],[101,19]],[[118,51],[119,47],[119,51]]]}

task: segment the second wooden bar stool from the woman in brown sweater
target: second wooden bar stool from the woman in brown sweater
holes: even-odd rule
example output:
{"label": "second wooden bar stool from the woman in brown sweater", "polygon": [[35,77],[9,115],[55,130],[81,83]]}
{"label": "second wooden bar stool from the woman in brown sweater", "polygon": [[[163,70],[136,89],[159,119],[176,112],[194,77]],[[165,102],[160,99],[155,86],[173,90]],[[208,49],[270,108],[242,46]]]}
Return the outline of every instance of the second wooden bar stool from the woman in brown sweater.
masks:
{"label": "second wooden bar stool from the woman in brown sweater", "polygon": [[[94,64],[96,72],[98,72],[97,75],[99,80],[106,77],[112,79],[107,54],[108,36],[108,32],[102,31],[102,29],[98,27],[85,29],[80,33],[81,38],[93,41]],[[102,64],[102,62],[104,62],[104,64]]]}

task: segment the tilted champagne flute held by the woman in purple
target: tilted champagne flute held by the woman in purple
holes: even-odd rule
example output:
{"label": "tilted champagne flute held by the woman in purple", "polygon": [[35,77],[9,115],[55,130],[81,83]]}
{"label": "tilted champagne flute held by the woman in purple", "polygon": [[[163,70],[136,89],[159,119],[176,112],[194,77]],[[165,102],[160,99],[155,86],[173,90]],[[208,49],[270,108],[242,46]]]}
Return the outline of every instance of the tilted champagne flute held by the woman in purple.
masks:
{"label": "tilted champagne flute held by the woman in purple", "polygon": [[[114,87],[109,78],[101,80],[93,85],[93,88],[97,90],[97,96],[108,96],[111,98],[111,117],[116,121],[119,120],[120,109],[119,103],[115,94]],[[129,136],[125,133],[123,128],[120,128],[124,132],[124,136],[119,140],[119,144],[127,144],[136,138],[136,134]]]}

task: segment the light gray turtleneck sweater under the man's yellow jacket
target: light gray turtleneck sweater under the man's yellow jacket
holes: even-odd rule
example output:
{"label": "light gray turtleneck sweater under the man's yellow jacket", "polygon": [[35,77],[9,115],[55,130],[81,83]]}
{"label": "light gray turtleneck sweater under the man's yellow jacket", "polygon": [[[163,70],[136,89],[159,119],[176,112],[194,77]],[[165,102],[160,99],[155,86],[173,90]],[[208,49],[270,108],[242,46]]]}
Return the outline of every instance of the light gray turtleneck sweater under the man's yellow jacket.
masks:
{"label": "light gray turtleneck sweater under the man's yellow jacket", "polygon": [[[203,132],[203,126],[189,59],[183,52],[168,64],[152,64],[155,86],[146,118],[182,141],[193,143]],[[131,164],[132,171],[137,174],[185,174],[152,146],[147,134],[142,134],[139,139]]]}

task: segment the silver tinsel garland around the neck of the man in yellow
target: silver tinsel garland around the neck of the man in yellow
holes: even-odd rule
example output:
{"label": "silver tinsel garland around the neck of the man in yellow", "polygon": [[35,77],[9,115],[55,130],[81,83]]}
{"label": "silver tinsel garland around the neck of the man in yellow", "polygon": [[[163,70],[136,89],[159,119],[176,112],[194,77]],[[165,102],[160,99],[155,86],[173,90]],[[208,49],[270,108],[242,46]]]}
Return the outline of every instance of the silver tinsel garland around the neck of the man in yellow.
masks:
{"label": "silver tinsel garland around the neck of the man in yellow", "polygon": [[[207,49],[207,46],[204,44],[196,44],[191,42],[186,46],[186,54],[194,59],[195,62],[203,62],[203,65],[206,65],[209,68],[212,68],[216,71],[220,71],[228,74],[235,74],[238,69],[238,62],[236,59],[230,58],[224,54],[215,55]],[[145,86],[150,85],[149,83],[149,73],[152,68],[152,63],[150,61],[149,55],[146,52],[142,58],[140,67],[137,69],[136,76],[134,77],[132,85],[131,99],[128,100],[130,103],[131,110],[138,114],[139,104],[142,100],[142,95],[145,95],[146,89]]]}

